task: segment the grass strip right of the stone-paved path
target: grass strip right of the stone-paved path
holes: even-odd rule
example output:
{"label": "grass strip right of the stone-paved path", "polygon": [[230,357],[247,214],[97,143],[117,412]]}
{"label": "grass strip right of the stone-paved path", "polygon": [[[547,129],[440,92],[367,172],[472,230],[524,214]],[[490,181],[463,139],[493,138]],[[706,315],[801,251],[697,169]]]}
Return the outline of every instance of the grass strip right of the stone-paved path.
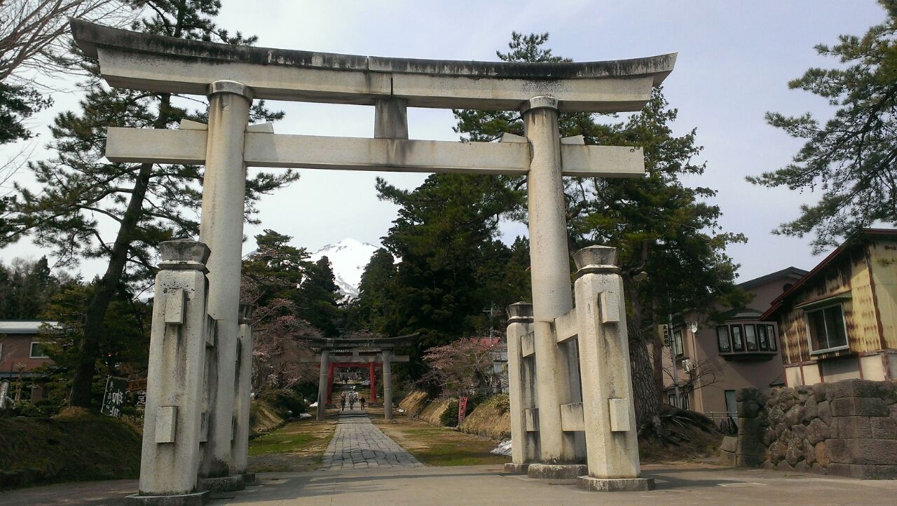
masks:
{"label": "grass strip right of the stone-paved path", "polygon": [[507,456],[489,453],[498,444],[498,441],[489,438],[433,426],[404,416],[397,417],[392,423],[379,419],[373,419],[373,422],[428,466],[478,466],[510,461]]}

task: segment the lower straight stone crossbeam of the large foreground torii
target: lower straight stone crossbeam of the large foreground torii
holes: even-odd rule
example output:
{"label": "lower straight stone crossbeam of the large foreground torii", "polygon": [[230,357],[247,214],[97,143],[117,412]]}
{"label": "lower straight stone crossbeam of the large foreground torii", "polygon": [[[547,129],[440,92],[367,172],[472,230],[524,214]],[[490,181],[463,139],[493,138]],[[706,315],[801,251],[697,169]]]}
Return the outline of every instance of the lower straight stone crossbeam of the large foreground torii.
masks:
{"label": "lower straight stone crossbeam of the large foreground torii", "polygon": [[[206,133],[110,127],[109,161],[205,163]],[[642,151],[630,146],[563,144],[564,176],[638,178],[645,173]],[[244,152],[249,167],[457,174],[526,175],[529,145],[520,143],[456,143],[403,139],[367,139],[320,135],[247,132]]]}

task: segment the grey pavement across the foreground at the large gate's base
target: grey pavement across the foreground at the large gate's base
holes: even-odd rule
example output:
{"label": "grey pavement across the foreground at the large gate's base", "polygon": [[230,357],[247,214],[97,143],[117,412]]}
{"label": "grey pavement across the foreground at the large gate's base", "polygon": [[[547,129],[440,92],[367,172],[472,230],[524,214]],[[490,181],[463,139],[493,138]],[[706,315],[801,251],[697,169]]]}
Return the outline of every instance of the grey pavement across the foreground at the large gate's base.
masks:
{"label": "grey pavement across the foreground at the large gate's base", "polygon": [[[657,490],[589,493],[574,485],[504,475],[501,466],[378,467],[266,473],[224,504],[893,504],[897,482],[697,464],[645,466]],[[128,484],[130,486],[128,486]],[[4,506],[120,504],[137,482],[57,484],[0,493]]]}

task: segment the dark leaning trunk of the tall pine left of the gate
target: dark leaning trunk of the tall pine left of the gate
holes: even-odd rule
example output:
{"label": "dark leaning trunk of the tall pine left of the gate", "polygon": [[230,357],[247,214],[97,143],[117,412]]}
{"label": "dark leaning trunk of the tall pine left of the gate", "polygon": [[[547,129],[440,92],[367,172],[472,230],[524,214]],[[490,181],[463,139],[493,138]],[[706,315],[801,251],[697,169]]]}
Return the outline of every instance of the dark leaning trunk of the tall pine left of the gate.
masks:
{"label": "dark leaning trunk of the tall pine left of the gate", "polygon": [[[170,107],[170,95],[162,95],[159,106],[159,116],[153,126],[164,128],[168,109]],[[134,231],[137,222],[140,221],[144,211],[144,199],[152,178],[152,163],[141,164],[135,178],[134,190],[131,200],[127,203],[125,214],[122,215],[118,227],[118,235],[109,253],[109,265],[106,272],[97,284],[90,305],[84,315],[84,328],[81,345],[78,348],[78,361],[74,367],[72,379],[72,393],[69,396],[69,406],[91,406],[91,383],[96,372],[96,362],[100,358],[100,334],[102,332],[103,318],[109,303],[115,297],[118,284],[121,283],[121,275],[125,272],[127,253],[134,240]]]}

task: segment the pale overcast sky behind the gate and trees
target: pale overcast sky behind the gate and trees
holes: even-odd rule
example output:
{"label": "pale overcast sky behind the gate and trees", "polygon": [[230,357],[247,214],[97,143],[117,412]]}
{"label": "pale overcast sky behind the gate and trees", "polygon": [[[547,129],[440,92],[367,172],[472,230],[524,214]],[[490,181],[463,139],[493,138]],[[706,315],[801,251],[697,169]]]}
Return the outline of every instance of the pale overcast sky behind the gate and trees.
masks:
{"label": "pale overcast sky behind the gate and trees", "polygon": [[[839,34],[860,35],[884,20],[874,0],[719,2],[715,0],[555,1],[555,2],[305,2],[223,0],[217,22],[222,28],[256,34],[258,46],[382,57],[495,60],[511,31],[551,34],[548,47],[575,61],[648,57],[678,52],[675,70],[665,82],[666,99],[679,109],[674,129],[682,135],[697,128],[707,161],[693,186],[718,190],[727,231],[745,233],[749,242],[729,249],[741,265],[739,281],[786,266],[809,269],[807,243],[772,235],[780,222],[797,216],[798,206],[818,194],[755,187],[745,176],[787,163],[801,143],[767,126],[763,114],[812,111],[827,118],[824,100],[789,91],[787,83],[811,66],[837,62],[816,55],[814,45],[833,43]],[[42,124],[75,107],[77,94],[55,95],[57,104],[35,118],[40,132],[35,157],[46,156]],[[280,134],[373,135],[373,108],[328,104],[270,102],[286,111],[274,128]],[[416,139],[456,140],[449,110],[409,109],[408,128]],[[19,146],[6,149],[12,153]],[[0,153],[2,154],[2,153]],[[396,206],[377,199],[380,175],[405,188],[424,178],[416,174],[301,170],[291,188],[259,203],[260,226],[248,227],[250,240],[263,228],[292,235],[296,246],[315,251],[344,238],[373,244],[386,235]],[[27,182],[22,171],[16,176]],[[505,240],[526,233],[520,224],[503,228]],[[0,249],[0,259],[39,257],[27,242]],[[104,267],[85,263],[92,276]]]}

